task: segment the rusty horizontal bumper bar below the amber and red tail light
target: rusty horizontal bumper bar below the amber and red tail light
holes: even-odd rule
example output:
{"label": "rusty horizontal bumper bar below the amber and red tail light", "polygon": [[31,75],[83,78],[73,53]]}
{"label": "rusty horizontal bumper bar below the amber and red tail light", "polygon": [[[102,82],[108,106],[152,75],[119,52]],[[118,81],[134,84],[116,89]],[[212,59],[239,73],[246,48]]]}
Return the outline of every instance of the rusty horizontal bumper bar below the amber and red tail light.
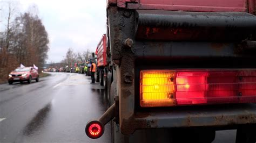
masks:
{"label": "rusty horizontal bumper bar below the amber and red tail light", "polygon": [[236,128],[241,124],[256,124],[256,104],[197,106],[166,111],[137,112],[130,120],[123,121],[121,131],[123,134],[131,134],[143,128]]}

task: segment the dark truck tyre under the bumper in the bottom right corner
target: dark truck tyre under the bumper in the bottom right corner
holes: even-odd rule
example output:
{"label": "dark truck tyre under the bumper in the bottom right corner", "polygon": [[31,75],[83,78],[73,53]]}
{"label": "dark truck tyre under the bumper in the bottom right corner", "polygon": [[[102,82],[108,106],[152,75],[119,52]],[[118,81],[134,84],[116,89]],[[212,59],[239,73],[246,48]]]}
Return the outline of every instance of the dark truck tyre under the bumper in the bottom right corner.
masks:
{"label": "dark truck tyre under the bumper in the bottom right corner", "polygon": [[237,129],[236,143],[255,143],[256,142],[256,124],[243,125]]}

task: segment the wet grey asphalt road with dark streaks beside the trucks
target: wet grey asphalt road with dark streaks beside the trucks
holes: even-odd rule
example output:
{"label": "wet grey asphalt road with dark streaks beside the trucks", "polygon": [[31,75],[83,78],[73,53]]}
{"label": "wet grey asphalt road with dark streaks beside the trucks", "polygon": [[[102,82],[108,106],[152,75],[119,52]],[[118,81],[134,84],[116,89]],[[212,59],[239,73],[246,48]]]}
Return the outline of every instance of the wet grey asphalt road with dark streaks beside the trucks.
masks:
{"label": "wet grey asphalt road with dark streaks beside the trucks", "polygon": [[[82,74],[51,73],[39,82],[0,84],[0,142],[111,142],[110,124],[99,139],[84,128],[107,108],[99,84]],[[235,130],[218,131],[213,143],[235,142]]]}

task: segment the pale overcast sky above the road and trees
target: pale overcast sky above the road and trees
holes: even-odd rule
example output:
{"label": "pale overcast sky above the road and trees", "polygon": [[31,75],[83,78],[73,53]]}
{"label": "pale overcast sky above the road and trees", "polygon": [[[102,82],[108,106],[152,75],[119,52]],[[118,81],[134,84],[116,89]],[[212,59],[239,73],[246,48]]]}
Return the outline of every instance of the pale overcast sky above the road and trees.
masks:
{"label": "pale overcast sky above the road and trees", "polygon": [[69,47],[75,52],[95,52],[106,32],[105,0],[19,0],[19,11],[27,11],[33,4],[49,34],[48,63],[62,60]]}

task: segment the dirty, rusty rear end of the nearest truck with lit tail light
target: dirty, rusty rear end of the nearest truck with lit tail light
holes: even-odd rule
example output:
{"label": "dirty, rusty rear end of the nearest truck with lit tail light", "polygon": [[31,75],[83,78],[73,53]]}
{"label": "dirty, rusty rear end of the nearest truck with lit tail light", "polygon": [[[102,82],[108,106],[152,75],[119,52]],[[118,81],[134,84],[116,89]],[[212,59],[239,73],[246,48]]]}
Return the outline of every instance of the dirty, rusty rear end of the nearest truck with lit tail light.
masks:
{"label": "dirty, rusty rear end of the nearest truck with lit tail light", "polygon": [[215,131],[230,129],[238,129],[237,142],[255,140],[255,7],[251,0],[107,1],[113,105],[99,121],[113,119],[113,141],[211,142]]}

